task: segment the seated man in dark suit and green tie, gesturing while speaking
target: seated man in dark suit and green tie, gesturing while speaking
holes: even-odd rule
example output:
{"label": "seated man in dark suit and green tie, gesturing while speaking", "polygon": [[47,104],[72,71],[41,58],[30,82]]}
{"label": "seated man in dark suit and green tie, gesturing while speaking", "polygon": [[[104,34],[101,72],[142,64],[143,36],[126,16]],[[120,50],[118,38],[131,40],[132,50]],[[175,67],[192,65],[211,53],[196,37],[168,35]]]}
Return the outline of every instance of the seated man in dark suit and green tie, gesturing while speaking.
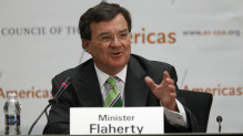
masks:
{"label": "seated man in dark suit and green tie, gesturing while speaking", "polygon": [[[80,18],[79,29],[83,48],[92,59],[52,80],[53,96],[68,76],[72,83],[52,105],[43,134],[69,134],[70,107],[102,106],[163,106],[165,133],[198,132],[195,117],[178,101],[174,67],[131,54],[128,10],[101,2]],[[110,103],[108,95],[114,92]]]}

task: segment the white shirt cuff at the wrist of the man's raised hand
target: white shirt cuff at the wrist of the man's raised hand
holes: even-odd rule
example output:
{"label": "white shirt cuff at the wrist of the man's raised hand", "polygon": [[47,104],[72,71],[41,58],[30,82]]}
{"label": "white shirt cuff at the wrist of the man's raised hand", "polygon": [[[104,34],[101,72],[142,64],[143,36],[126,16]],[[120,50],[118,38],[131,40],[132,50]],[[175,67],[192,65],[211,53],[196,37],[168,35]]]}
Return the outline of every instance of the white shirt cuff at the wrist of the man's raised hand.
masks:
{"label": "white shirt cuff at the wrist of the man's raised hand", "polygon": [[178,104],[179,112],[170,111],[164,107],[165,117],[171,124],[188,126],[185,109],[178,100],[175,100],[175,102]]}

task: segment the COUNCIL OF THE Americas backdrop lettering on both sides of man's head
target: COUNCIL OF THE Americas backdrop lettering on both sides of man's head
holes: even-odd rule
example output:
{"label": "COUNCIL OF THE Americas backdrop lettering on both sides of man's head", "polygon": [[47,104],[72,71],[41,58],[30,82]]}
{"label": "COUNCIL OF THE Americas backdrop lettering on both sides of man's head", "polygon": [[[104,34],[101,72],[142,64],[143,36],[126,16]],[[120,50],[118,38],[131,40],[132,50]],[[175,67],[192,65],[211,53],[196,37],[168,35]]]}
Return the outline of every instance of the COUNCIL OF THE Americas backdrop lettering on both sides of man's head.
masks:
{"label": "COUNCIL OF THE Americas backdrop lettering on both sides of man's head", "polygon": [[[78,35],[77,27],[7,27],[1,28],[3,36],[30,36],[30,35]],[[154,32],[142,28],[132,33],[133,44],[173,44],[176,42],[176,32]]]}

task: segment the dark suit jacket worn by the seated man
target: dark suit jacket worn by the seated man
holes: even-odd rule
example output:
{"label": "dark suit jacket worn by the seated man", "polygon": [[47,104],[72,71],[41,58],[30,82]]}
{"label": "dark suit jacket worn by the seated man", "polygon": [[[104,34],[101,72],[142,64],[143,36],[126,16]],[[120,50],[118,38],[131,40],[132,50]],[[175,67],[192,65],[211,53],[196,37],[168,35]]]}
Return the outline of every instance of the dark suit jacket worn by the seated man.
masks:
{"label": "dark suit jacket worn by the seated man", "polygon": [[[149,75],[156,84],[161,83],[163,72],[168,71],[176,85],[176,72],[170,64],[149,61],[139,55],[132,54],[128,63],[126,81],[124,87],[124,106],[160,106],[160,101],[153,95],[152,91],[144,82]],[[71,77],[71,85],[65,93],[60,96],[57,104],[53,104],[48,124],[43,134],[69,134],[69,108],[70,107],[101,107],[102,96],[98,76],[92,59],[80,64],[74,69],[62,72],[52,80],[52,95],[57,93],[60,83],[68,76]],[[178,100],[180,91],[176,87]],[[182,103],[183,104],[183,103]],[[166,118],[164,122],[165,133],[198,132],[194,115],[184,107],[188,116],[188,127],[171,125]]]}

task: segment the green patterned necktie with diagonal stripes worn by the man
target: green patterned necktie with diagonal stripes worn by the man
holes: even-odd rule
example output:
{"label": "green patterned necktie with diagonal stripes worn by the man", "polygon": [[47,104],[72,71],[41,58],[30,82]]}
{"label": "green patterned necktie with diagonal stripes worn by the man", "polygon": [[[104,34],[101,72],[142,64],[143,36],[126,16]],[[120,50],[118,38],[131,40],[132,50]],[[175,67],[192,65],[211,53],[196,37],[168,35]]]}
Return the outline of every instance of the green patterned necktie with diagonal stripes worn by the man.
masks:
{"label": "green patterned necktie with diagonal stripes worn by the man", "polygon": [[121,92],[118,90],[115,85],[115,80],[110,76],[107,82],[111,85],[108,95],[105,97],[104,106],[105,107],[122,107],[123,103],[121,100]]}

